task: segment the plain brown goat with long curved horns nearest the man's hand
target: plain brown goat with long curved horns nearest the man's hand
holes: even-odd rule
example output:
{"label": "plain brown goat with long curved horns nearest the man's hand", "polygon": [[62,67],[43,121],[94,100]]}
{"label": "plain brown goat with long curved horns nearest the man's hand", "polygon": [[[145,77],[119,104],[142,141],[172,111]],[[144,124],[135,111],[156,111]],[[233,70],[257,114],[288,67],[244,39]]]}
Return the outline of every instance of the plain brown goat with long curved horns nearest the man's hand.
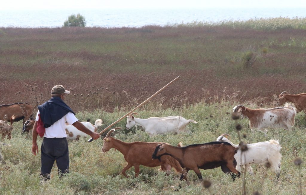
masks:
{"label": "plain brown goat with long curved horns nearest the man's hand", "polygon": [[[104,139],[102,152],[105,153],[111,148],[115,151],[119,150],[124,156],[125,161],[128,163],[125,168],[122,169],[121,173],[126,177],[125,171],[134,166],[135,177],[139,174],[139,165],[146,167],[157,167],[161,166],[161,171],[169,172],[173,167],[177,172],[182,172],[180,164],[170,156],[164,156],[160,160],[152,159],[151,154],[154,152],[157,145],[160,142],[132,142],[126,143],[119,139],[109,137],[110,133],[114,132],[115,129],[111,129]],[[167,143],[164,143],[167,144]],[[184,178],[185,179],[185,178]]]}

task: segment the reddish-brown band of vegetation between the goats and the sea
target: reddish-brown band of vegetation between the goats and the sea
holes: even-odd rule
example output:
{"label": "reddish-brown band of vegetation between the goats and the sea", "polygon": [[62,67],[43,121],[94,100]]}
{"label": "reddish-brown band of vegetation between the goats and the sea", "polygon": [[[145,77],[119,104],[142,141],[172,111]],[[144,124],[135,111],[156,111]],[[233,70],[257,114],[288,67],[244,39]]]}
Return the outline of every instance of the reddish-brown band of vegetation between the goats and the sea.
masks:
{"label": "reddish-brown band of vegetation between the goats and the sea", "polygon": [[[205,99],[274,101],[284,90],[305,92],[305,30],[230,27],[1,28],[0,104],[50,98],[57,84],[71,91],[74,110],[134,107],[158,97],[166,107]],[[294,39],[293,39],[294,38]],[[263,52],[252,67],[243,56]],[[222,97],[221,97],[222,95]]]}

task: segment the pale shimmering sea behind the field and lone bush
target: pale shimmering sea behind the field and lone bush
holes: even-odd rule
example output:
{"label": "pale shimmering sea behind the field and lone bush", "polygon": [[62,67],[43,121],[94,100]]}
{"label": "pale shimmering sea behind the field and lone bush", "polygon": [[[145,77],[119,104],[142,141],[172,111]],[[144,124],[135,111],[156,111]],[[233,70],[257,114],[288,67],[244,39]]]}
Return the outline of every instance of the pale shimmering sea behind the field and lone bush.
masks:
{"label": "pale shimmering sea behind the field and lone bush", "polygon": [[77,13],[85,17],[87,27],[114,28],[306,17],[306,8],[0,10],[0,27],[62,27],[69,15]]}

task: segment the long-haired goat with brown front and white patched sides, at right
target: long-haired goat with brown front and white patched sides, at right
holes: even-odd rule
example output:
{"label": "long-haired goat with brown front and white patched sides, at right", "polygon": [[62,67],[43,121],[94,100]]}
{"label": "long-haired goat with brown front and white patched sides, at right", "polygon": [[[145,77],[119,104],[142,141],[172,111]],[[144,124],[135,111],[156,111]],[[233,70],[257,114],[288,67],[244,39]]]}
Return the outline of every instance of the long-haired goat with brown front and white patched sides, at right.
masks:
{"label": "long-haired goat with brown front and white patched sides, at right", "polygon": [[290,129],[294,125],[294,117],[297,114],[295,108],[288,103],[284,107],[269,109],[251,109],[244,105],[233,107],[233,114],[248,117],[251,130],[261,130],[266,127],[278,127]]}

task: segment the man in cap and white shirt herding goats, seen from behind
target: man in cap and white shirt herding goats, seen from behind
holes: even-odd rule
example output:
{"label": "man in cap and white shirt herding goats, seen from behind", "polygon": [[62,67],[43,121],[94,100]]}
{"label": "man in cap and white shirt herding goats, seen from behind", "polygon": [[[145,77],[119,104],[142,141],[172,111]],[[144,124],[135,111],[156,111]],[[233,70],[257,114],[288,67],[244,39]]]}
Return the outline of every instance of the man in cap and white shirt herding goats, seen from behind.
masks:
{"label": "man in cap and white shirt herding goats, seen from behind", "polygon": [[56,160],[60,176],[69,172],[69,151],[65,122],[73,125],[80,131],[98,139],[100,135],[91,132],[74,116],[75,113],[63,101],[65,94],[70,92],[62,85],[55,85],[51,90],[51,99],[38,106],[38,112],[33,126],[32,153],[38,153],[37,135],[43,137],[41,145],[40,175],[44,180],[50,179],[50,172]]}

